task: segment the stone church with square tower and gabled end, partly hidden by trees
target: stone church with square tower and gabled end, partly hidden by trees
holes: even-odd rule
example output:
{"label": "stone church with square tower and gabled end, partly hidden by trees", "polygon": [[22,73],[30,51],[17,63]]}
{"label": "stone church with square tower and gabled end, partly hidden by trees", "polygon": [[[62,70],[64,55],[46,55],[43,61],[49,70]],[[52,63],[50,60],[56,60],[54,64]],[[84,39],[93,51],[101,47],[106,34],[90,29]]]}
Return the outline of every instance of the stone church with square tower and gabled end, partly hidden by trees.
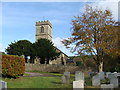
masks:
{"label": "stone church with square tower and gabled end, partly hidden by trees", "polygon": [[[36,22],[36,41],[40,38],[45,38],[50,41],[52,41],[52,24],[47,21],[38,21]],[[61,50],[59,50],[57,47],[55,47],[58,52],[61,52],[60,56],[49,62],[49,64],[64,64],[66,65],[66,60],[68,59],[68,56],[63,53]],[[39,63],[37,59],[35,60],[35,63]]]}

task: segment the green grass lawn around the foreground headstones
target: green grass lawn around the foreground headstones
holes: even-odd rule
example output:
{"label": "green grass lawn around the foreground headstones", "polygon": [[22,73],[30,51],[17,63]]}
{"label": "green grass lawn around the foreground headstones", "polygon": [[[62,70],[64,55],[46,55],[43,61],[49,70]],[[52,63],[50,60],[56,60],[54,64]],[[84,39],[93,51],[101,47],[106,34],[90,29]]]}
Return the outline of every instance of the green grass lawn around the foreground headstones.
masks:
{"label": "green grass lawn around the foreground headstones", "polygon": [[[61,76],[63,74],[47,74],[57,75],[59,77],[20,77],[18,79],[3,78],[3,80],[7,82],[8,88],[73,88],[74,74],[71,74],[70,84],[61,83]],[[85,75],[85,88],[95,88],[91,84],[91,80]]]}

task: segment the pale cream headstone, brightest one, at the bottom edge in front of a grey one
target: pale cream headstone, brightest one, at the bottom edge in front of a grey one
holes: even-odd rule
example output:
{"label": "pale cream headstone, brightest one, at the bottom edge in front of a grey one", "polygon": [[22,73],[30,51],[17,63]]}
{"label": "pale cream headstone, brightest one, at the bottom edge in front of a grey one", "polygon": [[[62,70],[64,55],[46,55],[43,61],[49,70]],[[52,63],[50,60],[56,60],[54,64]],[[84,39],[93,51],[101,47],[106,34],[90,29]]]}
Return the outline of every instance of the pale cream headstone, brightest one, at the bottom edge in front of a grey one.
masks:
{"label": "pale cream headstone, brightest one, at the bottom edge in front of a grey one", "polygon": [[73,81],[73,90],[84,90],[84,80]]}

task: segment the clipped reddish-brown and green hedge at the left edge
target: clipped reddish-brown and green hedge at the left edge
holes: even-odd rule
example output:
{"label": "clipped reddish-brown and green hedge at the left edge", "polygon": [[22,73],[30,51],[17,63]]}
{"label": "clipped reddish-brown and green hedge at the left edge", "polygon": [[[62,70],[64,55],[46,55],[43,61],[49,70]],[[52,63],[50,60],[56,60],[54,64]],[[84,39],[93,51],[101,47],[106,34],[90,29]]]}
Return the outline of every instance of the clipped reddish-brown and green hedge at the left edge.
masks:
{"label": "clipped reddish-brown and green hedge at the left edge", "polygon": [[19,56],[2,55],[2,75],[17,77],[25,72],[25,59]]}

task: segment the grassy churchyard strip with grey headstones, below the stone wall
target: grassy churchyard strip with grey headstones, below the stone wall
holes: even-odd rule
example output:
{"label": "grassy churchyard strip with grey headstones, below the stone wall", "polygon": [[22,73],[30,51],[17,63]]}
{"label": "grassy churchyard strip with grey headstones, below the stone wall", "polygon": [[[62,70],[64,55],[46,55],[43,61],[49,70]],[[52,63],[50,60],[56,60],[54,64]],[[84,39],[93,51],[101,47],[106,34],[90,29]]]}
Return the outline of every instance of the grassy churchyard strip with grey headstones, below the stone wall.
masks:
{"label": "grassy churchyard strip with grey headstones, below the stone wall", "polygon": [[[31,76],[32,74],[35,75]],[[75,74],[70,74],[70,72],[60,74],[31,71],[17,79],[2,78],[2,80],[0,82],[3,88],[69,88],[71,90],[110,88],[110,90],[118,90],[120,87],[120,73],[117,72],[76,71]]]}

